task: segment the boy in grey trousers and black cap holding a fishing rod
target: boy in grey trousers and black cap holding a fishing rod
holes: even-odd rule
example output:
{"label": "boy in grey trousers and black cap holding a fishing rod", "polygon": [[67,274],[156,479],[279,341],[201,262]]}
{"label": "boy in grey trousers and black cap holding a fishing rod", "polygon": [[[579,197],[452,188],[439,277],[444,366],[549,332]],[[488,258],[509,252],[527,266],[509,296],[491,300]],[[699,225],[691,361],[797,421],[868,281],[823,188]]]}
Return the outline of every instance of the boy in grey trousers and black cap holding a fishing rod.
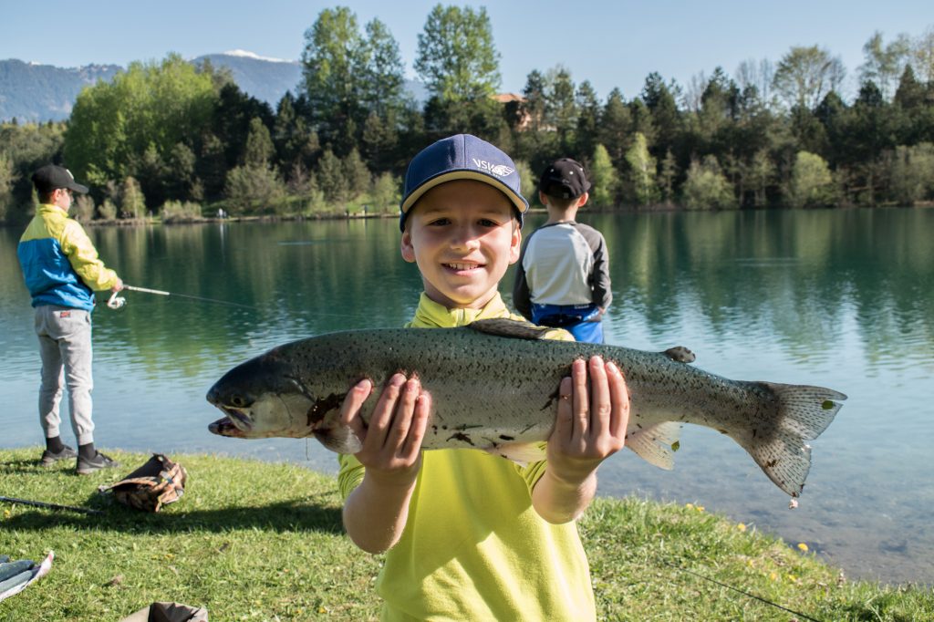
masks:
{"label": "boy in grey trousers and black cap holding a fishing rod", "polygon": [[[41,205],[20,238],[17,255],[26,288],[35,307],[35,333],[42,358],[39,421],[46,449],[41,463],[77,458],[78,474],[120,466],[94,448],[92,402],[91,312],[94,290],[120,291],[123,281],[97,257],[87,233],[68,218],[73,193],[88,188],[75,182],[68,169],[54,164],[33,174]],[[59,427],[62,417],[63,379],[68,389],[68,413],[78,451],[64,445]]]}

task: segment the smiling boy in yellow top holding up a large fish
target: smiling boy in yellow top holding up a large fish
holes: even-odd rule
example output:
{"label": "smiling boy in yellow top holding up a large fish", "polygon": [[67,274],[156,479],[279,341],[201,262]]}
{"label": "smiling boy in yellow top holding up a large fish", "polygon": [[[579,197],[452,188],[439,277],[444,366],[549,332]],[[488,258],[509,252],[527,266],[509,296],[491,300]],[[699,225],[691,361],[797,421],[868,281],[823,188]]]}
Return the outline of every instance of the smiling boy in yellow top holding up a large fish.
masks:
{"label": "smiling boy in yellow top holding up a large fish", "polygon": [[[403,259],[417,264],[424,292],[407,326],[521,320],[498,286],[517,262],[528,206],[512,160],[475,136],[419,152],[405,176],[400,228]],[[490,364],[498,362],[508,364]],[[362,449],[340,457],[339,485],[350,538],[387,552],[376,584],[383,619],[594,619],[574,519],[596,493],[601,461],[624,445],[629,395],[616,365],[573,361],[556,388],[546,459],[525,466],[481,451],[420,451],[431,394],[402,373],[376,389],[361,380],[341,407]],[[374,392],[367,426],[361,409]]]}

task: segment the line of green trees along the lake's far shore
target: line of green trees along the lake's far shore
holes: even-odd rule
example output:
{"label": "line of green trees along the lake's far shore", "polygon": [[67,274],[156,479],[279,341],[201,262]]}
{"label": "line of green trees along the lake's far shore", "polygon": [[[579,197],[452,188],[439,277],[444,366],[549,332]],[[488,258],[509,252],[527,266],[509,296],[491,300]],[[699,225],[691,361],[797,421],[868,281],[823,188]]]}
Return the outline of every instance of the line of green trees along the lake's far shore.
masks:
{"label": "line of green trees along the lake's far shore", "polygon": [[169,54],[85,88],[64,122],[0,125],[0,220],[29,215],[29,177],[50,161],[92,187],[79,219],[394,212],[412,155],[461,132],[510,153],[530,198],[545,163],[571,156],[607,209],[930,202],[934,26],[875,33],[863,50],[851,97],[842,61],[818,45],[685,86],[651,73],[629,99],[601,100],[562,66],[504,94],[486,9],[437,5],[417,37],[419,103],[386,25],[328,8],[304,34],[302,82],[275,109]]}

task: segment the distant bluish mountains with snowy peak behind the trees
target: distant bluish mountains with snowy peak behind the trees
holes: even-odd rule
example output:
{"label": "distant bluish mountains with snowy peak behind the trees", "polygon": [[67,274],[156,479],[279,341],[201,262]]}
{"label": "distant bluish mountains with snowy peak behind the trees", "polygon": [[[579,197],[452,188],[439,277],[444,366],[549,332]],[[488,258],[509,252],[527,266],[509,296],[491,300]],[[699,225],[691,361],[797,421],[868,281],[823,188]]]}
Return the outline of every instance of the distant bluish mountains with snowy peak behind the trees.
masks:
{"label": "distant bluish mountains with snowy peak behind the trees", "polygon": [[[190,62],[205,61],[226,67],[241,91],[274,107],[286,92],[294,92],[302,79],[302,64],[298,61],[266,58],[241,49],[205,54]],[[100,79],[111,80],[123,69],[118,64],[64,68],[17,59],[0,61],[0,122],[65,120],[81,89]],[[420,82],[406,80],[405,86],[417,101],[424,101],[425,90]]]}

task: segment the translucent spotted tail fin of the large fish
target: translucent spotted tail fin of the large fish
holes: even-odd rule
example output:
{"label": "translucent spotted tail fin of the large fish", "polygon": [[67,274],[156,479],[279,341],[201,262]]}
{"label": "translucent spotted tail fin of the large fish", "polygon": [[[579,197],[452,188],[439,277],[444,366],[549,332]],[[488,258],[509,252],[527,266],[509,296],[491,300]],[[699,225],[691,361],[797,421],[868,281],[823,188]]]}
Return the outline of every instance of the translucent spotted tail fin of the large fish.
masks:
{"label": "translucent spotted tail fin of the large fish", "polygon": [[806,441],[827,430],[846,396],[823,387],[756,384],[771,391],[778,403],[774,426],[737,440],[778,488],[798,497],[811,470],[811,446]]}

